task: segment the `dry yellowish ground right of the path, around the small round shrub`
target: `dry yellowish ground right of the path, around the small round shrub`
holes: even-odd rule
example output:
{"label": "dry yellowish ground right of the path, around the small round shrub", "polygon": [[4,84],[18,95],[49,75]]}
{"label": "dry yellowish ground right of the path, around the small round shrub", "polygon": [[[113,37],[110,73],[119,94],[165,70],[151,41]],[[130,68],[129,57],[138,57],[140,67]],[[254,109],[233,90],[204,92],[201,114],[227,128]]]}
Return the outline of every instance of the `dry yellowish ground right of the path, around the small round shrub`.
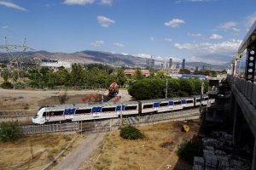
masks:
{"label": "dry yellowish ground right of the path, around the small round shrub", "polygon": [[[104,150],[101,151],[103,141],[80,169],[192,169],[189,164],[178,159],[176,151],[178,144],[192,139],[198,133],[200,125],[198,120],[189,121],[187,124],[190,132],[183,133],[183,124],[184,122],[165,122],[138,127],[147,137],[143,140],[125,140],[119,137],[119,131],[115,131],[110,134],[109,139],[105,137],[108,142]],[[96,161],[99,154],[101,155]]]}

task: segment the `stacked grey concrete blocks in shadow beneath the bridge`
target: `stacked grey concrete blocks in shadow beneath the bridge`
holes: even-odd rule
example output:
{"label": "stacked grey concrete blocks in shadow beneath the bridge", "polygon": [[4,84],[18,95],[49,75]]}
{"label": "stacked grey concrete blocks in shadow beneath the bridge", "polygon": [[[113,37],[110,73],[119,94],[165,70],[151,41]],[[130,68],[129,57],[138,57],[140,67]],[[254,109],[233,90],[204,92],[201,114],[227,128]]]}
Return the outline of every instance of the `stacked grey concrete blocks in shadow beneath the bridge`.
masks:
{"label": "stacked grey concrete blocks in shadow beneath the bridge", "polygon": [[[212,138],[203,138],[205,146],[203,157],[194,157],[194,170],[249,170],[250,161],[232,153],[232,135],[225,132],[213,132]],[[203,163],[204,162],[204,163]]]}

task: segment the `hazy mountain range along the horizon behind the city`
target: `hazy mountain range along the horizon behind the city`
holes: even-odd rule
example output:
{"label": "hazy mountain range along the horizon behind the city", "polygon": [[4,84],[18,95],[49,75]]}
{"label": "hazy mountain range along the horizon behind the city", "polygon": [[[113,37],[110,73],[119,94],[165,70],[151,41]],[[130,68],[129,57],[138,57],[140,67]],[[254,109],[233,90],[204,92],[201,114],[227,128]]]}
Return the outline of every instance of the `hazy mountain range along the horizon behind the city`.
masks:
{"label": "hazy mountain range along the horizon behind the city", "polygon": [[[14,53],[17,55],[17,53]],[[91,50],[84,50],[80,52],[75,52],[72,54],[67,53],[51,53],[48,51],[28,51],[26,52],[22,60],[24,62],[32,62],[32,61],[40,61],[41,59],[57,59],[68,61],[72,63],[83,63],[83,64],[104,64],[104,65],[112,65],[112,66],[128,66],[128,67],[147,67],[147,60],[146,58],[132,56],[132,55],[124,55],[124,54],[113,54],[109,52],[102,52],[102,51],[91,51]],[[9,58],[7,54],[0,53],[0,62],[8,62]],[[160,68],[162,65],[165,65],[164,61],[161,60],[154,60],[154,67]],[[176,67],[177,62],[173,62],[172,65]],[[181,62],[179,62],[181,65]],[[204,62],[186,62],[186,67],[195,69],[198,66],[199,69],[205,67],[205,69],[212,69],[212,70],[224,70],[228,68],[228,64],[224,65],[211,65]]]}

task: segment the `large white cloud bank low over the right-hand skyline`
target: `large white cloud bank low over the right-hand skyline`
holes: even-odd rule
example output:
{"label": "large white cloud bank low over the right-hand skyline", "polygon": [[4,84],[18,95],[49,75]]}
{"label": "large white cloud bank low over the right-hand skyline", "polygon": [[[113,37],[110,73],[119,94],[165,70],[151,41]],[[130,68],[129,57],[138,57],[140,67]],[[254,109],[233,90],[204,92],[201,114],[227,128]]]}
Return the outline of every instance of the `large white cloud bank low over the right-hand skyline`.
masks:
{"label": "large white cloud bank low over the right-hand skyline", "polygon": [[194,54],[236,54],[241,44],[241,40],[231,40],[219,43],[175,43],[174,47],[178,49],[189,50]]}

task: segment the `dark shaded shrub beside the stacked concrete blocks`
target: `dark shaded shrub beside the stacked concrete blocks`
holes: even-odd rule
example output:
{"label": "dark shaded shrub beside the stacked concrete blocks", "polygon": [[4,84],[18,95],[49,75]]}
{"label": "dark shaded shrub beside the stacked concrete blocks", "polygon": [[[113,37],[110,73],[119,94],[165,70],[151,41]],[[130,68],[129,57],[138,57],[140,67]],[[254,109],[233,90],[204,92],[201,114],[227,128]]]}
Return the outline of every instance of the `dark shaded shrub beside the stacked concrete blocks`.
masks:
{"label": "dark shaded shrub beside the stacked concrete blocks", "polygon": [[178,145],[177,156],[184,161],[187,161],[190,165],[193,165],[194,156],[202,156],[203,149],[204,146],[201,139],[194,136],[193,139]]}

